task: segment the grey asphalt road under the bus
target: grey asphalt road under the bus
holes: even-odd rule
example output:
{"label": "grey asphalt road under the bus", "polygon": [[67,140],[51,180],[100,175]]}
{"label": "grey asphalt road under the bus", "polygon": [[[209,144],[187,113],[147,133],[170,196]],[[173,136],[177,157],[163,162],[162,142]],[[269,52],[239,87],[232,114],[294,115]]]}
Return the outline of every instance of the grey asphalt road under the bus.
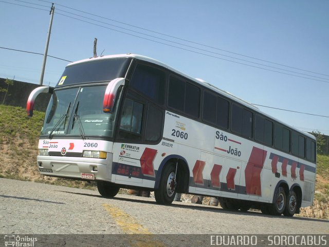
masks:
{"label": "grey asphalt road under the bus", "polygon": [[[329,234],[329,221],[184,202],[164,206],[154,198],[121,194],[106,199],[93,190],[0,179],[0,234],[309,235]],[[162,246],[142,246],[155,245]]]}

